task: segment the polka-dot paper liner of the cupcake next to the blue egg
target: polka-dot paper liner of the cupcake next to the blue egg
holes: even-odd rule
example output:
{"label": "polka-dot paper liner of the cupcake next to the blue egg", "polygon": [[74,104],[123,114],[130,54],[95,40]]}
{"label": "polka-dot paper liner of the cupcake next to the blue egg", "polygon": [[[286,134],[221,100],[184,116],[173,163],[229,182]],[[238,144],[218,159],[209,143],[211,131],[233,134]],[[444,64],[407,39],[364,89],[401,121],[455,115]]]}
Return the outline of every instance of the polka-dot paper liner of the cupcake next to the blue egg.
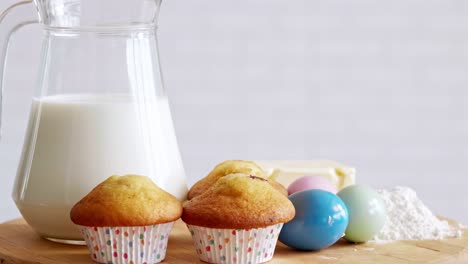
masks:
{"label": "polka-dot paper liner of the cupcake next to the blue egg", "polygon": [[187,225],[200,260],[255,264],[271,260],[283,224],[254,229],[216,229]]}

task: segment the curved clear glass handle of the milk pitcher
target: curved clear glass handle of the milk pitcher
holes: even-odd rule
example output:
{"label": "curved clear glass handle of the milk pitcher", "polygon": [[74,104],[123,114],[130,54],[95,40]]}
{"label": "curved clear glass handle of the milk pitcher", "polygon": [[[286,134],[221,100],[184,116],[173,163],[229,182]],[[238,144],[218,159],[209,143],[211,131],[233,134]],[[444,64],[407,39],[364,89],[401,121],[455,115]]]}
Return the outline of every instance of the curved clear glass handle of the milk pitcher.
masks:
{"label": "curved clear glass handle of the milk pitcher", "polygon": [[0,14],[0,137],[2,133],[5,66],[10,38],[22,27],[35,23],[39,23],[39,20],[33,0],[15,3]]}

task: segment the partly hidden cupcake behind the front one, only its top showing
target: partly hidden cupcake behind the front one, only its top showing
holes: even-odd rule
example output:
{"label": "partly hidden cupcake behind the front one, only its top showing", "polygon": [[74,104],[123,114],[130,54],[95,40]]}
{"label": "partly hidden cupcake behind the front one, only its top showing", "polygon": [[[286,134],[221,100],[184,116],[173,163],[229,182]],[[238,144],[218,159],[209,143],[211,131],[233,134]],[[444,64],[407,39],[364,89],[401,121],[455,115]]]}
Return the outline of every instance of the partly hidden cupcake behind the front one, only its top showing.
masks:
{"label": "partly hidden cupcake behind the front one, only its top showing", "polygon": [[206,177],[196,182],[188,192],[188,199],[192,199],[202,194],[208,190],[208,188],[213,185],[219,178],[232,173],[243,173],[267,179],[276,190],[285,196],[288,196],[288,190],[279,182],[273,179],[268,179],[268,176],[265,174],[262,168],[260,168],[260,166],[258,166],[255,162],[247,160],[227,160],[216,165],[216,167],[214,167],[214,169]]}

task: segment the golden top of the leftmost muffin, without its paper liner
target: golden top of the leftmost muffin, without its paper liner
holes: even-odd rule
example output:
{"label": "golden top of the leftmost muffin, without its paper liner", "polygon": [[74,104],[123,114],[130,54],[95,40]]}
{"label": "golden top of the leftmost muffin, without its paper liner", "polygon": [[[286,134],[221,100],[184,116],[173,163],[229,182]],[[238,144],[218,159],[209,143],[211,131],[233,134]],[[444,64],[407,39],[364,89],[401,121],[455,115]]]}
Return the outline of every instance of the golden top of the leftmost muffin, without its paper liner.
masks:
{"label": "golden top of the leftmost muffin, without its paper liner", "polygon": [[146,226],[172,222],[182,215],[177,198],[150,178],[111,176],[73,206],[73,223],[84,226]]}

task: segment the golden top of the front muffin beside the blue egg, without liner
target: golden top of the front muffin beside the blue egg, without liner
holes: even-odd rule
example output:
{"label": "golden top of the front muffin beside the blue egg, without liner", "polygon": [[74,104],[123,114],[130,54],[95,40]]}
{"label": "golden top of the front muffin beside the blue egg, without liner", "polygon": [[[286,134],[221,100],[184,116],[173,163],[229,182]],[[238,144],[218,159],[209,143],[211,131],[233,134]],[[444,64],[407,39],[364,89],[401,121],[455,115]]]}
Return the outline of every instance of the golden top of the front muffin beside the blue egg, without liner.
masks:
{"label": "golden top of the front muffin beside the blue egg, without liner", "polygon": [[286,223],[295,215],[288,197],[261,177],[236,173],[184,202],[182,220],[209,228],[250,229]]}

